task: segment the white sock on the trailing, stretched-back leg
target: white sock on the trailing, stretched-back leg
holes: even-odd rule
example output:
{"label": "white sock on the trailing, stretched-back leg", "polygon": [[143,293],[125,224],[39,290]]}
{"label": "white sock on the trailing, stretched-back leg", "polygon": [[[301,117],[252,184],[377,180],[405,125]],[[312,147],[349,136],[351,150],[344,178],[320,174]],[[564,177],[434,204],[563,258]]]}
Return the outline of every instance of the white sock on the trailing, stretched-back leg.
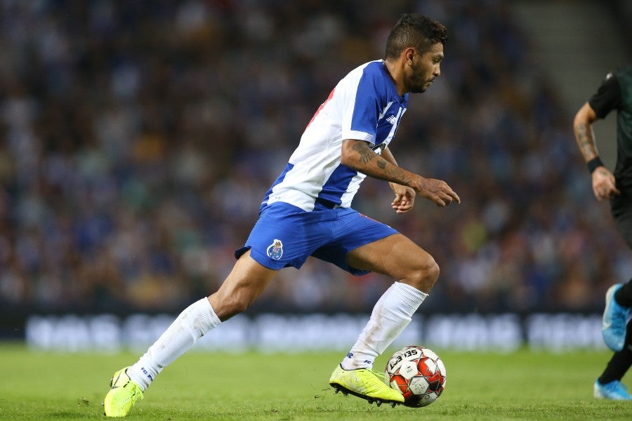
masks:
{"label": "white sock on the trailing, stretched-back leg", "polygon": [[220,323],[208,299],[202,298],[194,302],[180,313],[138,362],[127,369],[127,375],[144,391],[163,368]]}

